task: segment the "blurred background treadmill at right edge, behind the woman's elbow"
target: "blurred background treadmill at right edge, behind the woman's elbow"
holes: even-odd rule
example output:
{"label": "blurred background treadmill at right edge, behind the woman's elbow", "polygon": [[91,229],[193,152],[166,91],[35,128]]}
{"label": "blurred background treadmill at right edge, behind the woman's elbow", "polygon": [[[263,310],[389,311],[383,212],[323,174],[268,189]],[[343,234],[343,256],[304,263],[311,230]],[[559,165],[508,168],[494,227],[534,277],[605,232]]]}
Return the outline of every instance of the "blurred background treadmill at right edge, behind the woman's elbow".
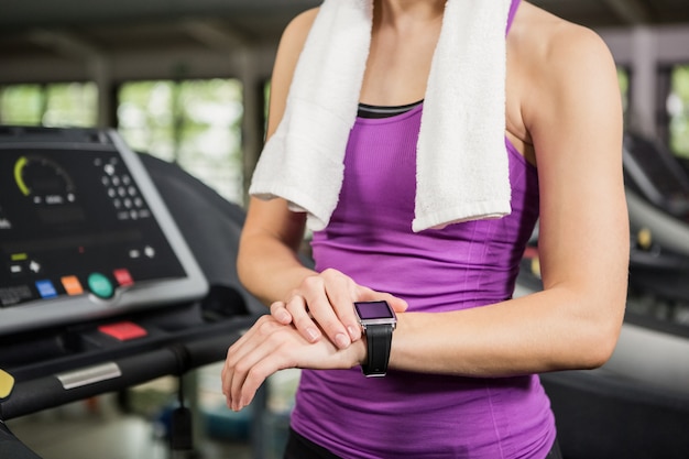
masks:
{"label": "blurred background treadmill at right edge, behind the woman's elbow", "polygon": [[689,175],[659,143],[627,133],[632,231],[625,323],[609,371],[689,395]]}

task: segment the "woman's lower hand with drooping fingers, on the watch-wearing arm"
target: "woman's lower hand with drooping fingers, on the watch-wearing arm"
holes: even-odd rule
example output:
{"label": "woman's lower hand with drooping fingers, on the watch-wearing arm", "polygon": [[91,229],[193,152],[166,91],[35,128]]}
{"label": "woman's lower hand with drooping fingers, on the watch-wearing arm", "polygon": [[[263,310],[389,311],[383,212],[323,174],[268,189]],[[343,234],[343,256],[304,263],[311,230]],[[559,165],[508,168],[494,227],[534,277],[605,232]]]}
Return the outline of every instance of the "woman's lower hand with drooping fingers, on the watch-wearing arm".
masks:
{"label": "woman's lower hand with drooping fingers, on the watch-wearing arm", "polygon": [[245,407],[267,376],[287,368],[349,369],[365,358],[362,341],[338,349],[330,340],[306,340],[292,324],[265,315],[230,347],[222,368],[222,393],[233,411]]}

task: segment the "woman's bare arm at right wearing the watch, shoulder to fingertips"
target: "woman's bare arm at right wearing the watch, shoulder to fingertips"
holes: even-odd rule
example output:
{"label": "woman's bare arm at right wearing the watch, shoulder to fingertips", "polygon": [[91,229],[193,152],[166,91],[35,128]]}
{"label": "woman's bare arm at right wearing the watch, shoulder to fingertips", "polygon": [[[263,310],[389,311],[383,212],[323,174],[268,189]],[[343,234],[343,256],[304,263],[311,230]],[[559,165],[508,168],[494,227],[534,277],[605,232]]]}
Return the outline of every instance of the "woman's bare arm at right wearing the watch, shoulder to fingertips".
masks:
{"label": "woman's bare arm at right wearing the watch, shoulder to fingertips", "polygon": [[[549,31],[529,58],[529,89],[521,95],[538,163],[544,291],[466,310],[398,314],[392,369],[503,376],[594,368],[614,349],[628,262],[615,68],[591,32]],[[307,342],[267,317],[230,348],[223,391],[237,409],[274,371],[351,368],[365,353],[364,340],[340,349]]]}

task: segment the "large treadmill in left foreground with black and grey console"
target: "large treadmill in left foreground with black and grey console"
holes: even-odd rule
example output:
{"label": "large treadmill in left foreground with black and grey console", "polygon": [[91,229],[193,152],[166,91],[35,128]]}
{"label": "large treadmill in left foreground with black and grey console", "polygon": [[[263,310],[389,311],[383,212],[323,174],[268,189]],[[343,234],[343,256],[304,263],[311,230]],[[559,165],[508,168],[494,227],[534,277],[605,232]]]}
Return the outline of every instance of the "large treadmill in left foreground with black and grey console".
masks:
{"label": "large treadmill in left foreground with black and grey console", "polygon": [[113,130],[0,127],[0,457],[37,457],[3,420],[221,361],[263,313],[243,216]]}

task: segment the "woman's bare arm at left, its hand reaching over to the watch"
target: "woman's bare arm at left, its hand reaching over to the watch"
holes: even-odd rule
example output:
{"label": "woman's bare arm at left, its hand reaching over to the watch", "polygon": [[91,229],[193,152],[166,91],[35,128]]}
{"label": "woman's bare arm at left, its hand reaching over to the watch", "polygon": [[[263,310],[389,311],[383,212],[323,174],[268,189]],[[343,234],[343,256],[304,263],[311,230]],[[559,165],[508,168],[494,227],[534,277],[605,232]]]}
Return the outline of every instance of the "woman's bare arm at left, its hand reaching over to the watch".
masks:
{"label": "woman's bare arm at left, its hand reaching over to the watch", "polygon": [[[273,70],[267,135],[283,117],[298,55],[316,17],[313,9],[295,18],[280,44]],[[238,272],[242,284],[283,324],[294,324],[309,341],[325,331],[339,347],[361,338],[352,302],[387,299],[397,310],[406,303],[392,295],[357,285],[333,270],[307,269],[297,256],[303,241],[305,215],[288,210],[284,199],[252,198],[242,230]],[[313,315],[309,315],[309,313]]]}

